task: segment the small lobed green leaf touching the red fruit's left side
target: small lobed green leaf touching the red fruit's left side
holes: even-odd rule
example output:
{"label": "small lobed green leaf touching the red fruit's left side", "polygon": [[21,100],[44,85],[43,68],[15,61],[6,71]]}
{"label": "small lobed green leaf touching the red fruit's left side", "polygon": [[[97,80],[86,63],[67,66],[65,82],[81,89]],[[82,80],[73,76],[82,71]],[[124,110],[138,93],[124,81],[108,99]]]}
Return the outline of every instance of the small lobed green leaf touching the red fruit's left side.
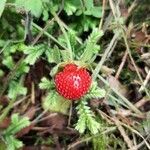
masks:
{"label": "small lobed green leaf touching the red fruit's left side", "polygon": [[41,79],[41,82],[39,84],[40,89],[51,89],[54,87],[54,83],[50,80],[48,80],[47,78],[43,77]]}

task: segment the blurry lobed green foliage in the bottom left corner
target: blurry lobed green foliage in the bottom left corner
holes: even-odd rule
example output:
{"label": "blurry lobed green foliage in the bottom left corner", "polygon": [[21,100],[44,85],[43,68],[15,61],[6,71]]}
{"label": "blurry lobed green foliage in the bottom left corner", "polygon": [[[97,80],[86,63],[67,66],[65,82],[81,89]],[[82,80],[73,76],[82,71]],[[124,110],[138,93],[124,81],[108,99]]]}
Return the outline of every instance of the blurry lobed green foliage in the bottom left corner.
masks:
{"label": "blurry lobed green foliage in the bottom left corner", "polygon": [[15,138],[15,134],[29,125],[30,121],[27,117],[20,117],[18,114],[12,115],[11,124],[3,132],[3,138],[7,143],[7,150],[16,150],[23,146],[23,143]]}

